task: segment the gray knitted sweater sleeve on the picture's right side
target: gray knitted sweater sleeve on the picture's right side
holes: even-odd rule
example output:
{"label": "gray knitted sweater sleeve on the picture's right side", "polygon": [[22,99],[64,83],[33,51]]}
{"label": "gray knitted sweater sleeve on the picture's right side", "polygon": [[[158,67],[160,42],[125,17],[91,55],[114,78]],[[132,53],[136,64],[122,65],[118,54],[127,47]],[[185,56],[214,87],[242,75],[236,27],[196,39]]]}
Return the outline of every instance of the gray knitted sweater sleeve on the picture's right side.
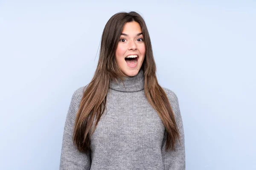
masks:
{"label": "gray knitted sweater sleeve on the picture's right side", "polygon": [[180,133],[180,143],[177,140],[175,143],[175,150],[166,151],[166,133],[163,139],[162,144],[162,157],[163,157],[163,164],[164,170],[185,170],[185,143],[184,143],[184,131],[183,131],[183,122],[182,117],[180,114],[180,108],[177,96],[174,92],[166,89],[166,94],[169,98],[169,101],[172,106],[172,111],[175,114],[175,121]]}

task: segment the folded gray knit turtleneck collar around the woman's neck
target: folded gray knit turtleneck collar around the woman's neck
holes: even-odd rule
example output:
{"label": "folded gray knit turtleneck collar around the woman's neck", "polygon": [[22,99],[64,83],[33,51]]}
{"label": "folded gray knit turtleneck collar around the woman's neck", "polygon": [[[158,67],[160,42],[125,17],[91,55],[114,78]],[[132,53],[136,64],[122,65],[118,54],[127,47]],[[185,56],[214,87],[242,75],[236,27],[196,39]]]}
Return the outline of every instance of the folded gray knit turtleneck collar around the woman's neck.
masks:
{"label": "folded gray knit turtleneck collar around the woman's neck", "polygon": [[144,89],[144,72],[140,69],[137,75],[133,77],[125,77],[123,82],[111,80],[111,89],[122,92],[136,92]]}

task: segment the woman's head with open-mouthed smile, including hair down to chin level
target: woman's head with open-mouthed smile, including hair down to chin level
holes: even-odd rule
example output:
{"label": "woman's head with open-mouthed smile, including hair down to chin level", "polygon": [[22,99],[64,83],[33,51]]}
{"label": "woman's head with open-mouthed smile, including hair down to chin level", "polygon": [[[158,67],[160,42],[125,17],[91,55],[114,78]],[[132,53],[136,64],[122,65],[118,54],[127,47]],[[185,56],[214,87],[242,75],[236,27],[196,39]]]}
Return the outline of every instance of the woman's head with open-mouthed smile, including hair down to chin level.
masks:
{"label": "woman's head with open-mouthed smile, including hair down to chin level", "polygon": [[156,71],[145,21],[136,12],[114,14],[102,34],[97,70],[121,78],[135,76],[140,68],[145,74]]}

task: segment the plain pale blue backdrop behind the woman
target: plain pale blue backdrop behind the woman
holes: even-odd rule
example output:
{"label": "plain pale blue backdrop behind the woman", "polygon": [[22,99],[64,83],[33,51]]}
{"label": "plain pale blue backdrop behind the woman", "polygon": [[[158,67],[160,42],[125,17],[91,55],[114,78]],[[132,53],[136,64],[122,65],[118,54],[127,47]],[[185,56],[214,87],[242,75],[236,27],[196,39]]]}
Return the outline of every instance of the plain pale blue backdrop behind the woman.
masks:
{"label": "plain pale blue backdrop behind the woman", "polygon": [[187,170],[256,170],[256,2],[0,1],[0,169],[58,170],[73,92],[119,11],[148,26],[160,85],[177,95]]}

